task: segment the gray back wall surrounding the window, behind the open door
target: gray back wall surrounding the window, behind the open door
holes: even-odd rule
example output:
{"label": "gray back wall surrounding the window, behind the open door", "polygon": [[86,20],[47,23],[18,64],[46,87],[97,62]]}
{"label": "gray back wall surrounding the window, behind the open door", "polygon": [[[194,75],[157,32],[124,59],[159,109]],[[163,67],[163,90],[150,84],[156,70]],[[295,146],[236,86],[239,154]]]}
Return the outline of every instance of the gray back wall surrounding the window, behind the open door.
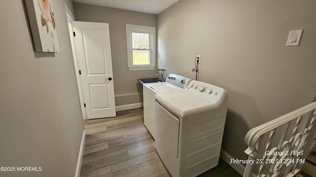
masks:
{"label": "gray back wall surrounding the window, behind the open door", "polygon": [[155,77],[154,70],[129,71],[127,67],[126,24],[157,27],[157,15],[74,2],[76,21],[108,23],[116,106],[143,102],[136,79]]}

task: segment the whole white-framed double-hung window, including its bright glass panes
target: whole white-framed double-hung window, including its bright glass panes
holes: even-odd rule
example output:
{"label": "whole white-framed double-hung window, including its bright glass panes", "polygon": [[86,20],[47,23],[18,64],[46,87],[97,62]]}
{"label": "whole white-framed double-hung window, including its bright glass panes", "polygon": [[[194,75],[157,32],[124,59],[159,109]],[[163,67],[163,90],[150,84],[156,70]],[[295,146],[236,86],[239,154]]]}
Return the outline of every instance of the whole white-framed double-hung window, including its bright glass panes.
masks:
{"label": "whole white-framed double-hung window, including its bright glass panes", "polygon": [[130,71],[153,70],[156,64],[156,28],[126,24],[127,60]]}

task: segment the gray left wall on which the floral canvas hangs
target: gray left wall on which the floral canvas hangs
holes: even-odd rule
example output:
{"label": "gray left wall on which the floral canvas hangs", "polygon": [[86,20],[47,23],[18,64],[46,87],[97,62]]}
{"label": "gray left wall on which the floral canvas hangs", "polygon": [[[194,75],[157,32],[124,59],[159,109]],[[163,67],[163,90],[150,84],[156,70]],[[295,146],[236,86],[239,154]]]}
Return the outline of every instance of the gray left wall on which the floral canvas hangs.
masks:
{"label": "gray left wall on which the floral canvas hangs", "polygon": [[24,0],[0,2],[1,177],[74,177],[83,133],[64,2],[52,0],[60,53],[34,52]]}

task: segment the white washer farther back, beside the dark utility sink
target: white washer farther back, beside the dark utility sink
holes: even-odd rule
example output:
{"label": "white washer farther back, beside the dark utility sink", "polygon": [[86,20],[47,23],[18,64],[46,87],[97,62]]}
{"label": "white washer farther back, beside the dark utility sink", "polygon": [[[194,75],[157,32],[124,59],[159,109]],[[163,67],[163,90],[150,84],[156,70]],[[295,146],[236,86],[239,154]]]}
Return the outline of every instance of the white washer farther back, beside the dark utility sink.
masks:
{"label": "white washer farther back, beside the dark utility sink", "polygon": [[192,79],[170,74],[166,82],[143,84],[144,125],[155,139],[155,95],[185,89]]}

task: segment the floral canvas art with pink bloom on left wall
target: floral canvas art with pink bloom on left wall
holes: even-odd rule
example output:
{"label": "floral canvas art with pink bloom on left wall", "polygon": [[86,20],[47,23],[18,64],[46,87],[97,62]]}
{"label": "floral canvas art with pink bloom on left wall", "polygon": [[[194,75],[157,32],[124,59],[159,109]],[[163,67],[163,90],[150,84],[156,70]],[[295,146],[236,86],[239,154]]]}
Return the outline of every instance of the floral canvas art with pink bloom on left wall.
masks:
{"label": "floral canvas art with pink bloom on left wall", "polygon": [[38,52],[59,52],[51,0],[25,0],[34,48]]}

